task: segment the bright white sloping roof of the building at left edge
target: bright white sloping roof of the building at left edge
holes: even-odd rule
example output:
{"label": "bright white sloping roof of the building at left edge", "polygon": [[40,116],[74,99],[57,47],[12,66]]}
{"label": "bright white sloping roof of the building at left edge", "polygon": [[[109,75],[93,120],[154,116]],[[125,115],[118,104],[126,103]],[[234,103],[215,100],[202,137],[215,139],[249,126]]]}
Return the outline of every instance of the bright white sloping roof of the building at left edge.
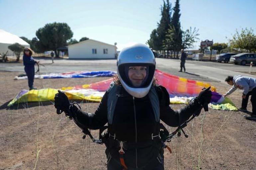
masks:
{"label": "bright white sloping roof of the building at left edge", "polygon": [[19,43],[21,45],[29,45],[29,43],[27,43],[17,35],[11,34],[10,32],[6,32],[3,29],[0,29],[0,43],[4,43],[4,44]]}

